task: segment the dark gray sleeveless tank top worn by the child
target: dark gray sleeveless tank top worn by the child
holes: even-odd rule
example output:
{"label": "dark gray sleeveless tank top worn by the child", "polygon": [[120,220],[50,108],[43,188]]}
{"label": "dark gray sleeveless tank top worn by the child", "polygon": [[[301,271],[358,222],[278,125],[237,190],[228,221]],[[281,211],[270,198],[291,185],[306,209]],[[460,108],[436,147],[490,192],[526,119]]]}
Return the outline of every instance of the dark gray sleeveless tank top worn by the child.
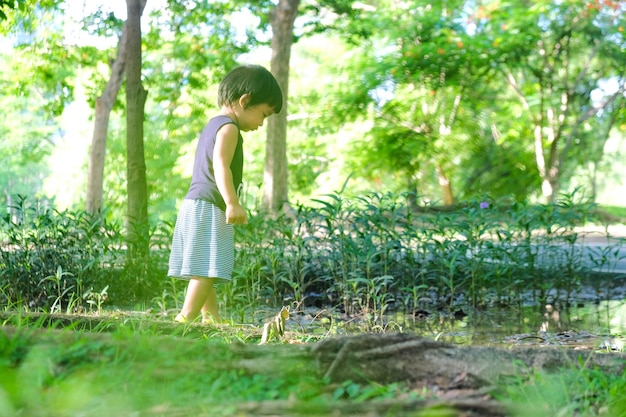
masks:
{"label": "dark gray sleeveless tank top worn by the child", "polygon": [[[213,150],[215,149],[215,137],[222,126],[234,124],[234,120],[227,116],[216,116],[209,120],[200,135],[196,156],[193,164],[193,174],[191,176],[191,186],[185,196],[187,200],[206,200],[213,203],[222,210],[226,210],[224,198],[217,189],[215,174],[213,171]],[[237,126],[239,127],[239,126]],[[241,132],[237,139],[235,155],[230,163],[230,170],[233,173],[233,185],[239,191],[243,176],[243,138]]]}

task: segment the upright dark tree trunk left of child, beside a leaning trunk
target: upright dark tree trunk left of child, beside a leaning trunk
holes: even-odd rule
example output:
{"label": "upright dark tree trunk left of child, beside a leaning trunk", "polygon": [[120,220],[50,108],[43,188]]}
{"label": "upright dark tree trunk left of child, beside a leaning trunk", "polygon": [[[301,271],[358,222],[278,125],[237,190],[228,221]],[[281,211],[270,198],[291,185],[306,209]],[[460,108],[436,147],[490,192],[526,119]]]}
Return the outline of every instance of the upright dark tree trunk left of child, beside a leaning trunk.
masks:
{"label": "upright dark tree trunk left of child, beside a leaning trunk", "polygon": [[126,0],[128,29],[126,50],[126,189],[129,256],[147,255],[148,186],[143,148],[144,105],[148,92],[141,84],[142,0]]}

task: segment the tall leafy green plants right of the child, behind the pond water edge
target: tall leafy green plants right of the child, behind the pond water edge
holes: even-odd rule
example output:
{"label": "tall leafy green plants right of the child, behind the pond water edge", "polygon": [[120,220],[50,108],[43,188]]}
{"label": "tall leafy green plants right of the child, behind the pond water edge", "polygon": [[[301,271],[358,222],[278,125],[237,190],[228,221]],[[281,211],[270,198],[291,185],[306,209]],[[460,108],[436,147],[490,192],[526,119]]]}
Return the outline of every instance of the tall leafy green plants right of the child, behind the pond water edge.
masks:
{"label": "tall leafy green plants right of the child, behind the pond water edge", "polygon": [[[569,297],[590,274],[575,245],[593,205],[575,195],[554,205],[475,201],[420,215],[389,194],[317,203],[294,217],[252,216],[240,228],[233,286],[222,293],[230,310],[293,300],[379,328],[388,310],[414,312],[421,299],[449,309],[540,303]],[[613,264],[613,252],[593,266]]]}

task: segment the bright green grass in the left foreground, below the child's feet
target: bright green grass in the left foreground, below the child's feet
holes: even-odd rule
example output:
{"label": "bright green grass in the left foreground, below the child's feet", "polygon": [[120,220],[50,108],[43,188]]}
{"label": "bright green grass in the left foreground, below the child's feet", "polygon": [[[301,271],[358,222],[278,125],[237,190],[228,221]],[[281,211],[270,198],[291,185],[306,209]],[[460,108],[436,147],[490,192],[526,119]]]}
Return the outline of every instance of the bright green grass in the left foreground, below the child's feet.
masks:
{"label": "bright green grass in the left foreground, below the child's feet", "polygon": [[[228,330],[209,338],[155,335],[133,326],[111,333],[46,330],[36,323],[5,328],[0,415],[231,416],[276,401],[328,412],[335,402],[409,395],[400,384],[330,383],[306,362],[283,360],[297,355],[297,346],[283,345],[279,361],[281,346],[258,347],[243,357],[237,346],[243,345],[236,331]],[[254,363],[247,362],[251,354]]]}

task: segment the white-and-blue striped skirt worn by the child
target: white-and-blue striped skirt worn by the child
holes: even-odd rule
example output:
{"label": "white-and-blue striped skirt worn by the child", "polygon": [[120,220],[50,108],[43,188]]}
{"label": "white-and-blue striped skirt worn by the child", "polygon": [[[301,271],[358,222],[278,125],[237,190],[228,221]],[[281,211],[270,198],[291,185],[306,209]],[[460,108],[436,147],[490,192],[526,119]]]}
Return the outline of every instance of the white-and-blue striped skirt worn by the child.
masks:
{"label": "white-and-blue striped skirt worn by the child", "polygon": [[217,206],[204,200],[183,200],[172,239],[169,277],[231,280],[235,262],[233,226]]}

